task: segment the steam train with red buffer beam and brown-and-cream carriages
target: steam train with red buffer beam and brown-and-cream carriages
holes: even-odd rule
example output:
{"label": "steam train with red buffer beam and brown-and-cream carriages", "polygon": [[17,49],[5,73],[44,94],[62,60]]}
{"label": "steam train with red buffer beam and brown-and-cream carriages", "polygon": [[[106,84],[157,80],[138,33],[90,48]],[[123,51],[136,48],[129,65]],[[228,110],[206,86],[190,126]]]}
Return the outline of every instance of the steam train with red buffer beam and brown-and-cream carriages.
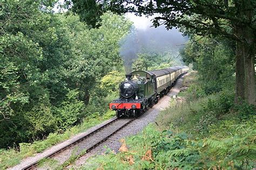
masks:
{"label": "steam train with red buffer beam and brown-and-cream carriages", "polygon": [[116,111],[117,117],[137,117],[167,94],[178,77],[187,71],[188,67],[181,66],[126,74],[125,81],[119,86],[119,98],[109,107]]}

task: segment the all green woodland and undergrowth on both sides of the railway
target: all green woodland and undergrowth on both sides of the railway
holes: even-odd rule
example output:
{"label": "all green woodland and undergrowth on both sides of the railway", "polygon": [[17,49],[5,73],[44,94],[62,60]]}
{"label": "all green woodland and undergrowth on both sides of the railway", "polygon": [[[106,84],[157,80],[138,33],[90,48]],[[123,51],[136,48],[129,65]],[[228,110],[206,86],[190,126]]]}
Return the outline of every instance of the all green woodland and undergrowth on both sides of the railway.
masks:
{"label": "all green woodland and undergrowth on both sides of the railway", "polygon": [[176,26],[189,37],[178,58],[170,49],[145,48],[132,69],[185,63],[197,72],[185,79],[181,106],[174,101],[159,126],[127,140],[131,152],[100,156],[90,168],[254,167],[254,1],[65,2],[66,13],[54,13],[51,1],[0,3],[0,168],[56,144],[48,140],[89,124],[86,118],[106,115],[125,74],[120,49],[134,28],[120,14],[129,11],[160,12],[154,26]]}

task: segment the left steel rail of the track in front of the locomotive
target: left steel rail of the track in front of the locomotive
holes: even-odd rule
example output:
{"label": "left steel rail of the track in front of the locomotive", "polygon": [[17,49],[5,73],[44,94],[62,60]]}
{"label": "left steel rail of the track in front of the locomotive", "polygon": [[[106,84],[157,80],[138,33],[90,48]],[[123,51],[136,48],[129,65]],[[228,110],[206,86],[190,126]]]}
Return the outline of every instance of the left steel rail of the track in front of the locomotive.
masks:
{"label": "left steel rail of the track in front of the locomotive", "polygon": [[[33,168],[36,168],[36,167],[38,166],[39,161],[41,161],[41,160],[43,160],[43,159],[45,159],[45,158],[51,158],[51,157],[53,157],[53,156],[59,154],[60,152],[65,151],[67,148],[71,147],[72,145],[75,145],[75,144],[79,143],[80,141],[82,141],[82,140],[84,140],[84,139],[90,137],[92,134],[94,134],[94,133],[96,133],[96,132],[98,132],[98,131],[104,129],[106,126],[109,126],[110,124],[112,124],[113,122],[116,122],[117,120],[118,120],[117,117],[114,118],[114,119],[112,119],[110,122],[108,122],[108,123],[106,123],[106,124],[100,126],[100,127],[99,127],[98,129],[96,129],[95,131],[92,131],[92,132],[86,134],[85,136],[82,136],[82,137],[78,138],[77,140],[72,141],[72,143],[70,143],[70,144],[67,144],[67,145],[65,145],[65,146],[63,146],[63,147],[60,147],[58,150],[56,150],[56,151],[54,151],[54,152],[52,152],[52,153],[50,153],[50,154],[44,156],[42,159],[37,160],[37,161],[33,162],[32,164],[30,164],[30,165],[28,165],[28,166],[25,166],[25,167],[22,168],[22,169],[25,170],[25,169],[33,169]],[[132,119],[132,120],[133,120],[133,119]],[[130,122],[129,122],[129,123],[130,123]],[[92,148],[91,148],[91,149],[92,149]],[[86,151],[87,151],[87,150],[86,150]]]}

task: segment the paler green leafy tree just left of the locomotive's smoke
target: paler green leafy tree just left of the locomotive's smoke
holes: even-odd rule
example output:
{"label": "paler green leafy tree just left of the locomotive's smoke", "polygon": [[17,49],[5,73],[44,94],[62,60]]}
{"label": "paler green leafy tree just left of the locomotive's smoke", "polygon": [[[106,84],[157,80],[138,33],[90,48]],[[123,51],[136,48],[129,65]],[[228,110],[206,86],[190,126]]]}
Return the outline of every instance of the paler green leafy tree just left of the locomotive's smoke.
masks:
{"label": "paler green leafy tree just left of the locomotive's smoke", "polygon": [[80,100],[87,104],[91,91],[97,88],[97,82],[112,70],[122,70],[123,60],[119,55],[119,41],[129,32],[131,23],[124,17],[105,13],[99,29],[85,29],[86,25],[79,22],[77,16],[62,16],[68,25],[72,40],[72,55],[67,61],[71,87],[79,89]]}

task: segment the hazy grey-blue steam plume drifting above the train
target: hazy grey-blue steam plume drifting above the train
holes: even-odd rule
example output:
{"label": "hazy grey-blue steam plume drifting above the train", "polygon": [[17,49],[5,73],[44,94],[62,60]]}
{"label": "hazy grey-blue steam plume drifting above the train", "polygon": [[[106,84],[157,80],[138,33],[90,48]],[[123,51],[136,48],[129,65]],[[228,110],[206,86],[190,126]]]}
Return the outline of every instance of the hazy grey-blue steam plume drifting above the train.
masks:
{"label": "hazy grey-blue steam plume drifting above the train", "polygon": [[184,44],[187,39],[178,30],[167,31],[164,26],[147,29],[135,29],[133,27],[131,33],[121,42],[122,47],[120,48],[120,55],[124,60],[126,73],[131,72],[132,63],[138,58],[138,53],[145,50],[158,54],[171,51],[173,56],[178,56],[179,48],[182,46],[177,45]]}

